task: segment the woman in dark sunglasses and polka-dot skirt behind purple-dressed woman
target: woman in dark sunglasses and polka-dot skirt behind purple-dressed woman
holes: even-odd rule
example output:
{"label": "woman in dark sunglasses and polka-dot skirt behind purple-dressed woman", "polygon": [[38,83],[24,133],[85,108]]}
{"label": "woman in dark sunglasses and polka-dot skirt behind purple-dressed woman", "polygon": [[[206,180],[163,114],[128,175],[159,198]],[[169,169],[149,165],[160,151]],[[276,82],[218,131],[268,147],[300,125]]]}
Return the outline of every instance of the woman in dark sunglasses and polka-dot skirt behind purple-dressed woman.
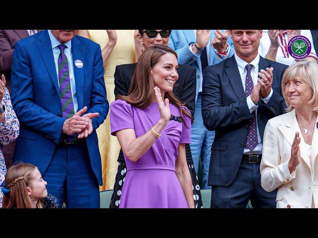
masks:
{"label": "woman in dark sunglasses and polka-dot skirt behind purple-dressed woman", "polygon": [[[140,43],[140,53],[145,49],[148,49],[154,45],[167,46],[171,30],[138,30],[136,34],[136,40]],[[137,49],[137,47],[136,47]],[[137,52],[138,53],[138,52]],[[115,97],[118,95],[127,96],[131,80],[136,68],[136,63],[122,64],[116,66],[115,71]],[[181,101],[185,103],[192,116],[194,115],[195,105],[195,90],[196,90],[196,70],[194,67],[188,65],[179,64],[178,68],[179,78],[173,87],[173,94]],[[196,208],[202,207],[202,199],[200,193],[199,181],[197,179],[196,171],[193,167],[193,160],[191,156],[190,145],[185,145],[186,160],[190,171],[192,185],[193,185],[193,198]],[[122,151],[118,157],[118,171],[116,174],[114,192],[111,198],[110,208],[118,208],[121,191],[124,185],[125,176],[127,173],[124,155]]]}

